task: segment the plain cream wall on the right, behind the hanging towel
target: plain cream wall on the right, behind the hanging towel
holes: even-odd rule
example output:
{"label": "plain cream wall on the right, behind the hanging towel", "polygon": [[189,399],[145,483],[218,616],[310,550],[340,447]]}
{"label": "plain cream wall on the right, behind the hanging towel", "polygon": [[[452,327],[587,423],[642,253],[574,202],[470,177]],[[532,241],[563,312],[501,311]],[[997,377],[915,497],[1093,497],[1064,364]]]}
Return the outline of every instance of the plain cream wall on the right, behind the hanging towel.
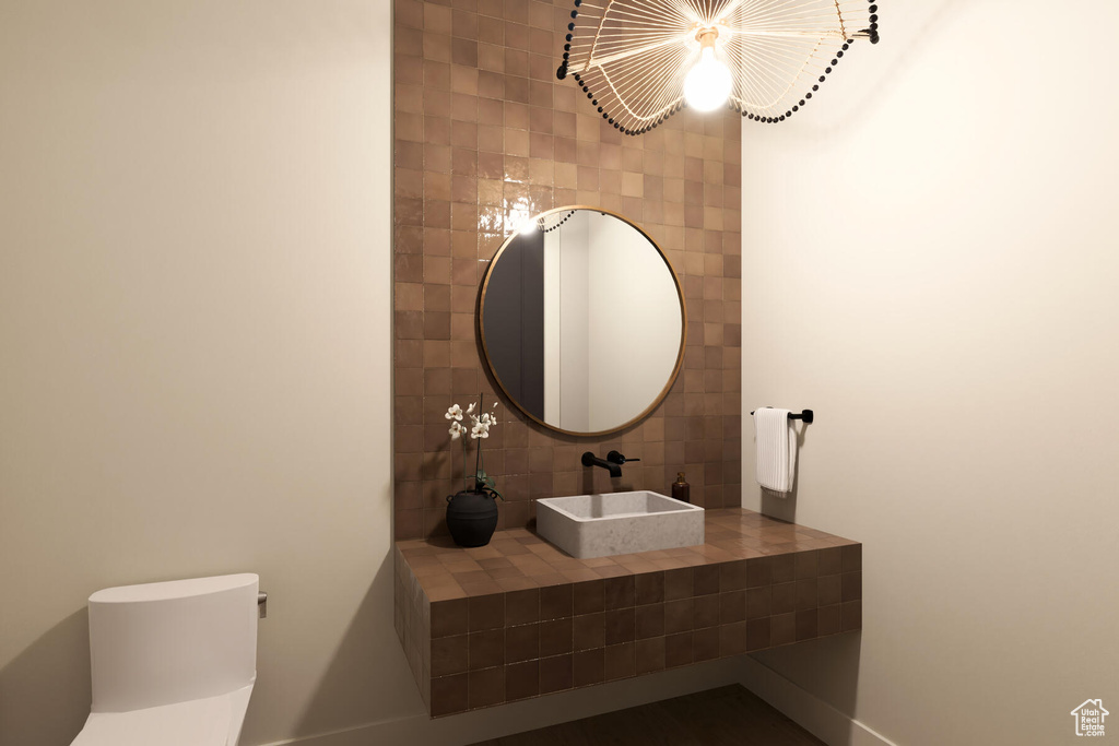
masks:
{"label": "plain cream wall on the right, behind the hanging towel", "polygon": [[1073,743],[1119,705],[1119,6],[882,15],[744,124],[743,405],[817,413],[767,507],[865,542],[861,643],[756,658],[897,744]]}

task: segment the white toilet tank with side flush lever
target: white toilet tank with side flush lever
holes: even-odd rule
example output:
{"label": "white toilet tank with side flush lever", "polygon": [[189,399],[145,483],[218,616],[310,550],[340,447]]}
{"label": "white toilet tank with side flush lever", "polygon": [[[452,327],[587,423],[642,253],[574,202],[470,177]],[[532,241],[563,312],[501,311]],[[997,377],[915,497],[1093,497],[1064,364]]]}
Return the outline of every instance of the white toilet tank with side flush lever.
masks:
{"label": "white toilet tank with side flush lever", "polygon": [[204,699],[252,684],[258,586],[260,578],[246,573],[90,596],[93,712]]}

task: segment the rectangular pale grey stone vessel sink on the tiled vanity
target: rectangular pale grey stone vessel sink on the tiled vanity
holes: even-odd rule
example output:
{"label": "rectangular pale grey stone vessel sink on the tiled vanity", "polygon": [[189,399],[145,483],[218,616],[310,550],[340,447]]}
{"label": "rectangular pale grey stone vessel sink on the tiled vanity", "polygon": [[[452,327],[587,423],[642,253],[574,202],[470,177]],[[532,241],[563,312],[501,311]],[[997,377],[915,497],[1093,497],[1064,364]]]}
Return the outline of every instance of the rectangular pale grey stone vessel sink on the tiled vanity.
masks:
{"label": "rectangular pale grey stone vessel sink on the tiled vanity", "polygon": [[703,544],[703,512],[648,490],[542,498],[536,531],[572,557],[609,557]]}

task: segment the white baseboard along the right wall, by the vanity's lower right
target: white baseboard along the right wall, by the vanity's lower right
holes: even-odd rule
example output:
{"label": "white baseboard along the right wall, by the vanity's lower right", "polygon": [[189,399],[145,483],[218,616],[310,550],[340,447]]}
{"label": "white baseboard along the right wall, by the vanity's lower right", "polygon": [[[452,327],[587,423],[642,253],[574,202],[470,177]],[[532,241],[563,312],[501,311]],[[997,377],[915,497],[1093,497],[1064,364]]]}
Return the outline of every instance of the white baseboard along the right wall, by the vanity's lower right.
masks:
{"label": "white baseboard along the right wall, by the vanity's lower right", "polygon": [[828,746],[897,746],[768,665],[749,655],[742,660],[742,686]]}

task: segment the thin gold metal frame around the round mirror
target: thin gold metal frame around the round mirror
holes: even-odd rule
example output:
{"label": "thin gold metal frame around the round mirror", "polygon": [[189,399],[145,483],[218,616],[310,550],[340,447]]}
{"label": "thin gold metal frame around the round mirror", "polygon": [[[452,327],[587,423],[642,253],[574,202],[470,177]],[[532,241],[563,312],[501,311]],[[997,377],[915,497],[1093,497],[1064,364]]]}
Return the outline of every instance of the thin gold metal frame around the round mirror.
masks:
{"label": "thin gold metal frame around the round mirror", "polygon": [[566,205],[564,207],[556,207],[556,208],[553,208],[551,210],[545,210],[544,213],[540,213],[539,215],[533,216],[533,218],[530,218],[530,219],[535,223],[535,221],[542,220],[543,218],[546,218],[549,215],[554,215],[556,213],[567,213],[567,211],[573,211],[573,210],[591,210],[591,211],[594,211],[594,213],[600,213],[602,215],[610,215],[610,216],[612,216],[614,218],[618,218],[619,220],[621,220],[626,225],[630,226],[634,230],[637,230],[639,234],[641,234],[645,237],[646,240],[649,242],[649,245],[652,246],[657,251],[657,254],[660,256],[661,261],[665,263],[665,266],[668,268],[669,275],[671,275],[671,277],[673,277],[673,285],[675,285],[675,287],[676,287],[676,298],[677,298],[677,300],[680,303],[680,347],[676,351],[676,365],[673,366],[673,372],[671,372],[671,375],[668,376],[668,381],[665,384],[665,387],[661,389],[660,394],[657,395],[657,397],[652,400],[652,403],[648,407],[646,407],[645,409],[642,409],[640,414],[638,414],[636,417],[633,417],[629,422],[622,423],[621,425],[619,425],[617,427],[611,427],[610,429],[596,431],[596,432],[593,432],[593,433],[582,433],[582,432],[579,432],[579,431],[570,431],[570,429],[564,429],[562,427],[556,427],[555,425],[549,425],[548,423],[546,423],[543,419],[540,419],[540,418],[536,417],[535,415],[533,415],[530,412],[526,410],[524,407],[520,406],[519,402],[517,402],[515,398],[513,398],[513,396],[509,395],[508,389],[506,388],[505,384],[501,381],[501,377],[498,375],[497,369],[493,367],[493,362],[490,359],[489,346],[487,344],[487,341],[486,341],[486,327],[482,323],[482,313],[483,313],[483,311],[486,309],[486,293],[489,290],[489,282],[490,282],[490,277],[492,277],[493,267],[497,265],[498,261],[501,258],[501,255],[505,253],[505,249],[508,248],[509,244],[513,243],[513,239],[516,238],[519,235],[519,232],[511,233],[511,234],[509,234],[509,236],[506,237],[505,242],[501,243],[501,247],[499,249],[497,249],[497,253],[493,255],[493,258],[490,259],[489,266],[486,268],[486,277],[482,281],[481,293],[480,293],[479,299],[478,299],[478,313],[477,313],[476,323],[478,325],[478,336],[481,339],[481,343],[482,343],[482,359],[486,362],[486,368],[489,370],[490,375],[493,377],[493,380],[497,381],[498,388],[501,389],[501,393],[505,395],[505,398],[513,406],[515,406],[518,412],[520,412],[523,415],[525,415],[526,417],[528,417],[529,419],[532,419],[533,422],[535,422],[537,425],[542,425],[544,427],[547,427],[548,429],[554,431],[556,433],[563,433],[564,435],[574,435],[574,436],[577,436],[577,437],[600,437],[602,435],[611,435],[613,433],[621,432],[621,431],[626,429],[627,427],[631,427],[631,426],[636,425],[637,423],[641,422],[642,419],[645,419],[646,417],[648,417],[650,414],[652,414],[653,409],[656,409],[657,407],[659,407],[660,404],[661,404],[661,402],[665,400],[665,397],[668,396],[668,393],[673,388],[673,384],[676,383],[676,378],[680,375],[680,367],[684,365],[684,350],[685,350],[685,347],[687,346],[687,340],[688,340],[688,309],[687,309],[687,303],[684,301],[684,289],[680,286],[680,278],[679,278],[679,276],[677,276],[676,268],[673,266],[673,263],[668,259],[668,256],[660,248],[660,245],[657,244],[657,242],[652,239],[652,236],[650,236],[648,233],[646,233],[641,228],[641,226],[637,225],[636,223],[633,223],[632,220],[630,220],[626,216],[620,215],[618,213],[614,213],[613,210],[603,209],[601,207],[591,207],[589,205]]}

